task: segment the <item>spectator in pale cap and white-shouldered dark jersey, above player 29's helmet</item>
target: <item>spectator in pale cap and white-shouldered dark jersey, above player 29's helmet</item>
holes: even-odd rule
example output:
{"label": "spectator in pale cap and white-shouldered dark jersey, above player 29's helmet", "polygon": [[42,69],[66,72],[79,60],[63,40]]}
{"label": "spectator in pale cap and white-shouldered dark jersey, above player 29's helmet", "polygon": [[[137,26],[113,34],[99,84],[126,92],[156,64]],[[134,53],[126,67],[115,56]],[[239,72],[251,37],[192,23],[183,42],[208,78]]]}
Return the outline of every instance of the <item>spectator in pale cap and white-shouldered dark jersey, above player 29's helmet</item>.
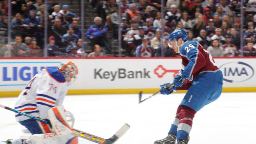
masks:
{"label": "spectator in pale cap and white-shouldered dark jersey, above player 29's helmet", "polygon": [[167,21],[166,25],[171,29],[174,29],[177,22],[181,21],[181,14],[178,13],[176,5],[171,5],[171,11],[165,14],[165,20]]}

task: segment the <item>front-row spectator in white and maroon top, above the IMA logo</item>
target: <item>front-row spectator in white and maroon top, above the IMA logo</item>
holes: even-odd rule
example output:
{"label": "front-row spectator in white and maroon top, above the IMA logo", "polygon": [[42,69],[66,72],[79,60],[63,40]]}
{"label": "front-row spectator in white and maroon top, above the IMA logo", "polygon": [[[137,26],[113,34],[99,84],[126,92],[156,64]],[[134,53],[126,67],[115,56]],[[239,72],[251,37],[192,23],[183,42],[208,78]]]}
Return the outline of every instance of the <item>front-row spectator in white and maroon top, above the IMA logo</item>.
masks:
{"label": "front-row spectator in white and maroon top, above the IMA logo", "polygon": [[238,56],[238,50],[235,45],[230,43],[231,39],[229,35],[225,36],[225,44],[222,46],[224,49],[223,55],[225,57],[237,57]]}

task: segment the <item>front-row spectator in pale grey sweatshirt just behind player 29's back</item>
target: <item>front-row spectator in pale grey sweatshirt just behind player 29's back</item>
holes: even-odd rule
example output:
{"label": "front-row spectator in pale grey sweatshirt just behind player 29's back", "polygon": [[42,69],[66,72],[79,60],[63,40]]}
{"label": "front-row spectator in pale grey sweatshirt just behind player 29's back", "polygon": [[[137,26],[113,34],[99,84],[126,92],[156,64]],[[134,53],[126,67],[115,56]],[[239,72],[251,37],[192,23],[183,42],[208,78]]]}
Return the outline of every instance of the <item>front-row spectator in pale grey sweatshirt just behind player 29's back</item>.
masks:
{"label": "front-row spectator in pale grey sweatshirt just behind player 29's back", "polygon": [[212,57],[223,57],[223,48],[219,45],[219,41],[217,39],[212,41],[212,46],[209,46],[207,51],[212,55]]}

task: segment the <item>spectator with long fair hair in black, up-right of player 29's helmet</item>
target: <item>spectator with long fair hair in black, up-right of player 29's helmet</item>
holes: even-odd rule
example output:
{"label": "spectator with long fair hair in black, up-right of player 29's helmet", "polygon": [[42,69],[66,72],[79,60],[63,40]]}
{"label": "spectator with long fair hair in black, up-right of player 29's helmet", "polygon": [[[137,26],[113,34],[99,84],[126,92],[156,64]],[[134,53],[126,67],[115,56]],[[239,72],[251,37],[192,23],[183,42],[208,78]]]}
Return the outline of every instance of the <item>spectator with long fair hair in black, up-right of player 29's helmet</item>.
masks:
{"label": "spectator with long fair hair in black, up-right of player 29's helmet", "polygon": [[206,27],[206,22],[203,20],[203,15],[200,14],[191,28],[191,30],[194,32],[194,37],[198,37],[200,30],[205,29],[205,27]]}

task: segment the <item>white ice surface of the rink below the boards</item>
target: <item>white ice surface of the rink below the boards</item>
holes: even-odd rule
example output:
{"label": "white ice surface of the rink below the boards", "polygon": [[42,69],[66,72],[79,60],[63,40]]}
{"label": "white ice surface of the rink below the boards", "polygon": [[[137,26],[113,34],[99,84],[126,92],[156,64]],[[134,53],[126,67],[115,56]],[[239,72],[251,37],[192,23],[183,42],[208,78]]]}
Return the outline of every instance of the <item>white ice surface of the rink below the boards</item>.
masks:
{"label": "white ice surface of the rink below the boards", "polygon": [[[153,144],[167,136],[183,96],[159,94],[141,104],[138,94],[66,96],[63,105],[73,112],[76,129],[109,138],[128,123],[130,130],[115,144]],[[15,101],[0,98],[1,105],[11,108]],[[256,93],[222,93],[195,115],[189,144],[256,144],[255,102]],[[21,125],[15,121],[14,112],[0,108],[0,115],[0,141],[18,138]]]}

